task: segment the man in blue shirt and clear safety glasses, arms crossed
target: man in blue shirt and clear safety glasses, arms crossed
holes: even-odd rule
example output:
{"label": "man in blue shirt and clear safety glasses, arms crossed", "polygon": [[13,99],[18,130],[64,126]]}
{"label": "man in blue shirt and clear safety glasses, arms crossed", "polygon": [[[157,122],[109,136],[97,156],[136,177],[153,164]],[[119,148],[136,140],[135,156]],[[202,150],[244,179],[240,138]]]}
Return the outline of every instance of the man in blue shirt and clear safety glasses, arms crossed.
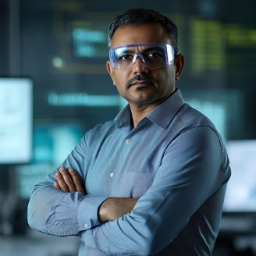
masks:
{"label": "man in blue shirt and clear safety glasses, arms crossed", "polygon": [[184,65],[176,25],[131,9],[111,24],[108,46],[108,73],[128,105],[37,183],[28,222],[79,236],[79,255],[211,255],[229,160],[215,127],[175,88]]}

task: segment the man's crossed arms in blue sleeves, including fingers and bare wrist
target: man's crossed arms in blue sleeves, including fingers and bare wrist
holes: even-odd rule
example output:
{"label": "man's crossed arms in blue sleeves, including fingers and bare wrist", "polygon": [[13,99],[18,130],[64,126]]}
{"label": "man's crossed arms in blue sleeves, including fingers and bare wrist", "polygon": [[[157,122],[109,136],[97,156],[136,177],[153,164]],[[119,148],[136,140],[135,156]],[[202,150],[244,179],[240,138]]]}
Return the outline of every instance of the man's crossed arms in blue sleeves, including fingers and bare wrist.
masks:
{"label": "man's crossed arms in blue sleeves, including fingers and bare wrist", "polygon": [[[85,247],[107,254],[157,253],[172,242],[190,216],[228,178],[229,174],[220,170],[220,158],[219,139],[208,127],[182,133],[165,151],[154,182],[140,199],[84,197],[76,171],[59,169],[56,183],[51,177],[34,188],[28,210],[30,226],[58,236],[78,235]],[[51,211],[44,214],[48,205]]]}

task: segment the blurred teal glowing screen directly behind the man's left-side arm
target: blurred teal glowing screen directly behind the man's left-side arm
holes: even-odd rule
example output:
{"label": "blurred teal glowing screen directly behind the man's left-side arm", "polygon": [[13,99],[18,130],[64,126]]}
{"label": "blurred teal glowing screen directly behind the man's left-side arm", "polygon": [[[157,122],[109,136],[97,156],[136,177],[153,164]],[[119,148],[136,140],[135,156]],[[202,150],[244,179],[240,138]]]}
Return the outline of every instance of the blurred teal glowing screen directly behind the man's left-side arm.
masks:
{"label": "blurred teal glowing screen directly behind the man's left-side arm", "polygon": [[15,168],[20,198],[28,199],[34,185],[61,165],[83,137],[84,129],[84,125],[75,122],[34,125],[33,162]]}

